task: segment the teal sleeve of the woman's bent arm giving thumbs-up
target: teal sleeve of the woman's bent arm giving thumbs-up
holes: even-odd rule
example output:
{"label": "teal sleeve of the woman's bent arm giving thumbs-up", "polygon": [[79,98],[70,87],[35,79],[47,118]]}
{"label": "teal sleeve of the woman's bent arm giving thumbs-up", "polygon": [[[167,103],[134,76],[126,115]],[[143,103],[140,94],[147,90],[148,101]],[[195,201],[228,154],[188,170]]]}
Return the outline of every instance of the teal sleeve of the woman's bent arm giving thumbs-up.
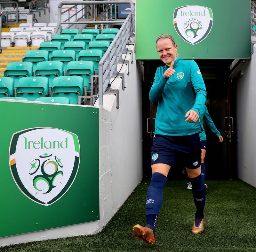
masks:
{"label": "teal sleeve of the woman's bent arm giving thumbs-up", "polygon": [[156,75],[155,75],[155,80],[153,82],[153,85],[149,91],[149,100],[152,103],[158,102],[160,97],[163,94],[165,84],[169,78],[164,78],[164,76],[161,74],[159,76],[159,68],[156,69]]}

